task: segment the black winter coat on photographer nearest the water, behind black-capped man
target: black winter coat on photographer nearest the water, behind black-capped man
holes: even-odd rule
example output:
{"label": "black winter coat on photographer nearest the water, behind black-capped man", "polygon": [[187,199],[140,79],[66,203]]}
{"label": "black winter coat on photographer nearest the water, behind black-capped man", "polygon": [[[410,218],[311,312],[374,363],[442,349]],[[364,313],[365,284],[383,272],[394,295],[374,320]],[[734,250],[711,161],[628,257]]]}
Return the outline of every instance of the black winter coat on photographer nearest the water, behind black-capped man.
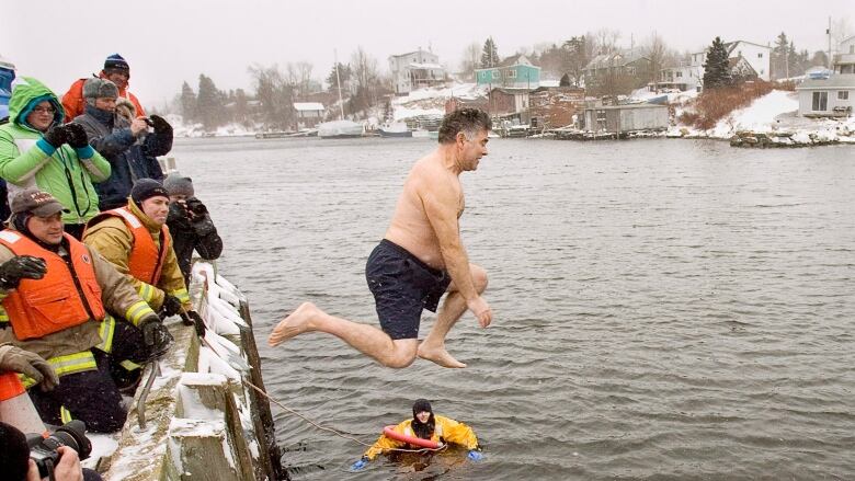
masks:
{"label": "black winter coat on photographer nearest the water, behind black-capped man", "polygon": [[175,257],[184,275],[184,283],[190,284],[193,251],[198,252],[200,257],[206,261],[218,259],[223,253],[223,239],[209,215],[205,214],[204,217],[191,221],[184,207],[176,202],[169,205],[167,226],[175,242]]}

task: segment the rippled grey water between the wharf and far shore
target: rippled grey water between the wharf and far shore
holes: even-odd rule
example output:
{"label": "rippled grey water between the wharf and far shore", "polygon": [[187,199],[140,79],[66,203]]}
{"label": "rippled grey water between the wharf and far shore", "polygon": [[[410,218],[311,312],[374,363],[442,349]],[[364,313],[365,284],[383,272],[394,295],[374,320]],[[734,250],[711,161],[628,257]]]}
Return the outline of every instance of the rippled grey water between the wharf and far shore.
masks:
{"label": "rippled grey water between the wharf and far shore", "polygon": [[366,443],[425,397],[486,445],[477,465],[351,474],[364,447],[274,406],[295,480],[855,479],[855,149],[490,146],[461,227],[493,325],[467,314],[449,334],[467,369],[392,370],[323,334],[265,340],[303,300],[376,324],[365,260],[433,144],[176,145],[272,394]]}

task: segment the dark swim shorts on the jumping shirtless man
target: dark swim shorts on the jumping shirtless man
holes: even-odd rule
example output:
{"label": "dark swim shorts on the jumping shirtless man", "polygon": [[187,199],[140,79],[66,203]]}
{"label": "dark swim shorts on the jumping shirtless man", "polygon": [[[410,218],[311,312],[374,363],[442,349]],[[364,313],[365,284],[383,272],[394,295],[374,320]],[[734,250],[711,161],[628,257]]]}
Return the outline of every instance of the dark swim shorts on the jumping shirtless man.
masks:
{"label": "dark swim shorts on the jumping shirtless man", "polygon": [[429,266],[386,239],[368,256],[365,279],[374,294],[380,328],[392,340],[418,339],[422,309],[436,312],[452,283],[447,272]]}

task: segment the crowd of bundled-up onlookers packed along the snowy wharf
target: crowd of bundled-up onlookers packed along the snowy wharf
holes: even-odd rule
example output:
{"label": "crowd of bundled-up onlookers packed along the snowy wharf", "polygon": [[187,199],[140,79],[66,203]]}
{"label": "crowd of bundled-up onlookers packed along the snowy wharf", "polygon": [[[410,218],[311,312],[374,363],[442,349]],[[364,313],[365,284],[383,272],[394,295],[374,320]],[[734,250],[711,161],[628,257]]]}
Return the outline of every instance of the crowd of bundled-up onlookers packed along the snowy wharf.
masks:
{"label": "crowd of bundled-up onlookers packed along the snowy wharf", "polygon": [[[172,127],[146,115],[129,78],[114,54],[60,100],[0,59],[0,374],[20,373],[47,425],[121,430],[123,394],[172,344],[163,321],[205,334],[191,257],[217,259],[223,242],[192,180],[164,175]],[[4,462],[11,479],[39,479],[26,459]]]}

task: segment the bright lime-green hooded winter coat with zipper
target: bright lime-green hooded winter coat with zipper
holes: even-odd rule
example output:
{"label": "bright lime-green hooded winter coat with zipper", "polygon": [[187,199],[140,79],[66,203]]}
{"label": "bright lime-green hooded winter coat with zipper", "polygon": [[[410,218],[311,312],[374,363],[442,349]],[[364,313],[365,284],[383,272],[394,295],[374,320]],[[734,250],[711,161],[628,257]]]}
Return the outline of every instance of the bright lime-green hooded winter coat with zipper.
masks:
{"label": "bright lime-green hooded winter coat with zipper", "polygon": [[47,87],[25,78],[15,87],[9,103],[9,124],[0,126],[0,177],[8,183],[9,198],[26,187],[50,193],[65,208],[64,224],[86,224],[98,214],[98,193],[92,182],[110,177],[110,162],[90,146],[73,149],[68,144],[55,149],[43,134],[26,123],[39,102],[49,101],[62,122],[59,100]]}

